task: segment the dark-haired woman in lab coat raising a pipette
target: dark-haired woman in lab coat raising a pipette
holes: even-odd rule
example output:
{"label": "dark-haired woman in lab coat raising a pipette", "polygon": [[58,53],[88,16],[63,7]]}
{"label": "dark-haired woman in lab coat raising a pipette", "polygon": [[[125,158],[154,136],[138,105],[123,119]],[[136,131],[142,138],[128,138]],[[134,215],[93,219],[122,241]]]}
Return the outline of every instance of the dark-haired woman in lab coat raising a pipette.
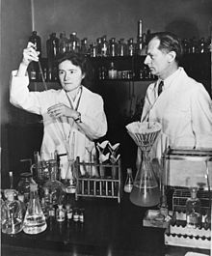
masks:
{"label": "dark-haired woman in lab coat raising a pipette", "polygon": [[102,98],[82,85],[87,74],[85,57],[75,52],[60,56],[58,68],[62,89],[43,92],[29,92],[27,68],[31,61],[39,61],[39,52],[33,43],[28,43],[19,69],[12,72],[11,103],[42,115],[41,153],[44,159],[51,158],[57,151],[59,155],[66,154],[68,159],[79,156],[88,161],[91,158],[87,149],[93,148],[94,139],[106,134],[107,120]]}

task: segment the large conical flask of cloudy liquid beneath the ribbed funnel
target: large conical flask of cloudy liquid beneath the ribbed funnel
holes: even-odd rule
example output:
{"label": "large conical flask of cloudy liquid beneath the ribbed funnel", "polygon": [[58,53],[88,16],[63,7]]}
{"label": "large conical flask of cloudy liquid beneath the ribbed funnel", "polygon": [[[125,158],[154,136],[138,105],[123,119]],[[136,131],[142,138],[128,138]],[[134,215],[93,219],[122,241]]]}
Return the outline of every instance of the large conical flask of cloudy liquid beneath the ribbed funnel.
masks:
{"label": "large conical flask of cloudy liquid beneath the ribbed funnel", "polygon": [[135,177],[130,201],[142,207],[155,206],[160,202],[159,185],[146,151],[143,152],[143,161]]}

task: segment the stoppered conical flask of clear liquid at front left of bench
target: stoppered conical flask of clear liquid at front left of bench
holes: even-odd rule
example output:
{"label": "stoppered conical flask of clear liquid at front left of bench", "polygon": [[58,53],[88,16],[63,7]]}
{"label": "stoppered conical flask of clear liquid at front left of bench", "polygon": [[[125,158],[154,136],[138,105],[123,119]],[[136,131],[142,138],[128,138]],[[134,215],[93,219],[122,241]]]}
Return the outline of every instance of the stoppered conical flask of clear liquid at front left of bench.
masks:
{"label": "stoppered conical flask of clear liquid at front left of bench", "polygon": [[23,221],[23,231],[26,234],[39,234],[47,227],[45,216],[40,206],[38,185],[30,185],[30,201]]}

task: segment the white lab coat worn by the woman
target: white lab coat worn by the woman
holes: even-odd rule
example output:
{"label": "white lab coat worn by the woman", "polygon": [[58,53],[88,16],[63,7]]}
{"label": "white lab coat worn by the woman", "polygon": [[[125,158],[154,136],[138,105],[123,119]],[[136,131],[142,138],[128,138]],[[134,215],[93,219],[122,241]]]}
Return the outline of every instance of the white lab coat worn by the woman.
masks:
{"label": "white lab coat worn by the woman", "polygon": [[16,71],[13,71],[10,101],[17,107],[42,116],[44,133],[41,153],[43,158],[46,160],[52,158],[56,150],[58,154],[66,154],[64,142],[64,137],[66,137],[71,157],[75,159],[79,156],[81,160],[88,162],[90,155],[86,147],[94,145],[93,139],[104,136],[107,132],[102,98],[86,87],[82,87],[78,111],[81,113],[82,122],[87,126],[87,130],[82,130],[71,118],[63,117],[60,121],[56,121],[47,113],[50,106],[59,102],[69,107],[69,101],[63,89],[29,92],[29,77],[27,75],[18,77],[15,74]]}

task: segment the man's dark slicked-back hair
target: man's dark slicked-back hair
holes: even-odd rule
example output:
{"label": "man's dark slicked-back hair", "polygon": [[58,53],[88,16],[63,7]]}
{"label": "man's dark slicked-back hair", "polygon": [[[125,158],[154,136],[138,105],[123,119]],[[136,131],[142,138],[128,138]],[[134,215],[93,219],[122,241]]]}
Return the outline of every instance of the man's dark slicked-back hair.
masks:
{"label": "man's dark slicked-back hair", "polygon": [[152,33],[149,36],[148,42],[149,43],[152,39],[158,39],[160,44],[158,49],[170,52],[174,51],[176,53],[175,61],[178,63],[183,54],[183,48],[180,40],[171,32],[156,32]]}

